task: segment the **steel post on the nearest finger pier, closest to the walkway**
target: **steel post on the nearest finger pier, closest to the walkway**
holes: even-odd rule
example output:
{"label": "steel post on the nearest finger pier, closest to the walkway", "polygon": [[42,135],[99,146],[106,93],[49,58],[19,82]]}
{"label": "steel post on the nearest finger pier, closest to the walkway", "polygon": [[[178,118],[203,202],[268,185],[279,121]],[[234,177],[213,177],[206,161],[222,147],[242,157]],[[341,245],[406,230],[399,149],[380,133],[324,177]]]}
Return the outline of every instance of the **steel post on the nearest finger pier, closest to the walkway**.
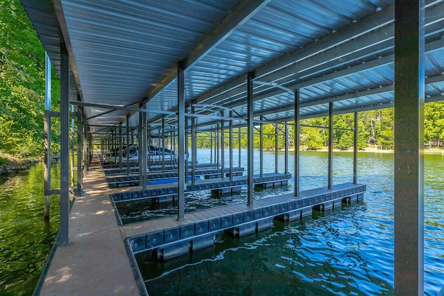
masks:
{"label": "steel post on the nearest finger pier, closest to the walkway", "polygon": [[[178,220],[185,220],[185,73],[178,63]],[[188,168],[186,169],[188,171]]]}

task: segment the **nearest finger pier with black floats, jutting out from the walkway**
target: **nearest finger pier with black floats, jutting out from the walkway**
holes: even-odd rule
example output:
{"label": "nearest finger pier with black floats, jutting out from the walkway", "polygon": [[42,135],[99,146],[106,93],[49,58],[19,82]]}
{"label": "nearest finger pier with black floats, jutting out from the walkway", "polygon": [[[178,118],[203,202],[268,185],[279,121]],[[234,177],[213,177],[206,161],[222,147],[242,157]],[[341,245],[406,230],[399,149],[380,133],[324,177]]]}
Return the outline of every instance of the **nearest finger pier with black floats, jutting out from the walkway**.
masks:
{"label": "nearest finger pier with black floats, jutting out from the walkway", "polygon": [[[311,216],[313,209],[336,210],[341,203],[359,202],[365,191],[364,184],[344,183],[333,186],[331,190],[302,191],[298,197],[291,193],[256,200],[254,209],[233,204],[187,214],[187,222],[177,221],[174,227],[171,227],[173,222],[170,218],[146,221],[137,225],[139,234],[126,239],[134,253],[153,250],[158,259],[167,260],[212,245],[216,232],[227,231],[233,236],[245,236],[271,227],[273,218],[297,220]],[[323,204],[327,206],[321,207]],[[207,218],[202,218],[205,216]],[[162,222],[165,225],[168,222],[169,227],[163,229]],[[160,229],[153,231],[155,227]]]}

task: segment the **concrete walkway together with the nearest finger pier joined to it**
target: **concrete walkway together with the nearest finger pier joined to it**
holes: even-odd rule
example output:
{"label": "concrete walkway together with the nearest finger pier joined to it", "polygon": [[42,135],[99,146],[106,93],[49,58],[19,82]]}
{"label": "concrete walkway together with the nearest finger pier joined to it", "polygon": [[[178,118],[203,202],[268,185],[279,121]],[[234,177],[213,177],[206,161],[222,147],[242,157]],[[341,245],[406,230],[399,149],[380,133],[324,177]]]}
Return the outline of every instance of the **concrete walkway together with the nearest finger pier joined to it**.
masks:
{"label": "concrete walkway together with the nearest finger pier joined to it", "polygon": [[216,232],[244,236],[271,227],[273,218],[296,220],[310,216],[312,209],[327,211],[343,202],[358,202],[366,186],[337,184],[333,189],[302,191],[298,197],[287,194],[255,200],[253,207],[232,204],[191,212],[183,221],[167,217],[129,225],[118,225],[110,198],[114,190],[108,189],[99,163],[93,163],[84,178],[85,195],[76,198],[69,215],[70,243],[56,249],[40,295],[60,295],[60,291],[65,295],[144,295],[134,259],[138,252],[154,250],[160,259],[171,259],[212,245]]}

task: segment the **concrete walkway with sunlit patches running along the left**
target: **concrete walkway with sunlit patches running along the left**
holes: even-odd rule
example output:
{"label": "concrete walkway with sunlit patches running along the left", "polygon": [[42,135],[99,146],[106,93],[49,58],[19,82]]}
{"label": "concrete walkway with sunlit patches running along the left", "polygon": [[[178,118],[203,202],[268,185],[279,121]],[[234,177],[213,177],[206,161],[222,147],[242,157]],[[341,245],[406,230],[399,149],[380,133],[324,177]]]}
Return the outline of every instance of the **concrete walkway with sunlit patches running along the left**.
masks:
{"label": "concrete walkway with sunlit patches running along the left", "polygon": [[57,248],[40,295],[139,295],[99,166],[83,185],[69,216],[71,243]]}

